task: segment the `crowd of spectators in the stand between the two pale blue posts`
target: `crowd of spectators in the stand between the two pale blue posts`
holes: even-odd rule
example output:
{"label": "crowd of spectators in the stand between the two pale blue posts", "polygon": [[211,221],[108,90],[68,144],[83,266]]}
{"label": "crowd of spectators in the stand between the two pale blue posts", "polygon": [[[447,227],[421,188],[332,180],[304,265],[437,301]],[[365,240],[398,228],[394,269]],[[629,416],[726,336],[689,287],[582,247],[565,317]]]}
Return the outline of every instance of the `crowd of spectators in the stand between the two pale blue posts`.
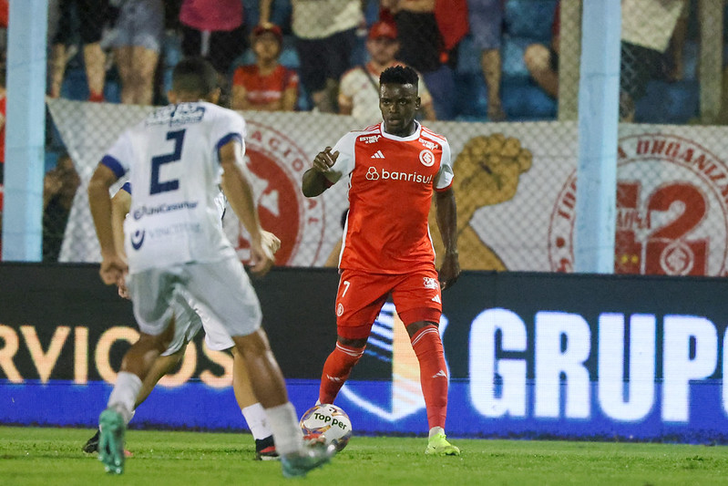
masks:
{"label": "crowd of spectators in the stand between the two pale blue posts", "polygon": [[[507,118],[500,100],[503,0],[56,3],[51,97],[65,96],[67,64],[80,54],[76,62],[86,74],[89,101],[163,103],[169,86],[159,71],[173,67],[165,49],[173,48],[169,39],[176,38],[178,58],[210,58],[235,109],[358,113],[361,107],[355,105],[371,97],[360,97],[353,89],[372,87],[369,81],[357,85],[354,72],[359,72],[359,81],[363,74],[364,80],[373,76],[376,81],[384,67],[401,63],[415,67],[423,78],[422,118],[456,119],[458,47],[472,32],[482,50],[487,119]],[[373,36],[373,29],[385,35]],[[287,63],[282,61],[284,50],[295,54],[293,62],[290,56]],[[116,97],[105,90],[109,79],[118,84]]]}

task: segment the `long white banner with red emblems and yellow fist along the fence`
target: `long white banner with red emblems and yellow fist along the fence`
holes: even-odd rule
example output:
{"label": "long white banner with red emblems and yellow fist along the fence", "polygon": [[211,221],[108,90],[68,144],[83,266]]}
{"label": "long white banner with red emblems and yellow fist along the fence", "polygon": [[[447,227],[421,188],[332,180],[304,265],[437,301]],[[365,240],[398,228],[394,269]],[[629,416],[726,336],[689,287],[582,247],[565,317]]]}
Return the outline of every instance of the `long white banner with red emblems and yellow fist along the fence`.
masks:
{"label": "long white banner with red emblems and yellow fist along the fence", "polygon": [[[48,107],[81,177],[60,261],[97,262],[87,181],[122,130],[152,108],[65,99],[49,99]],[[341,238],[346,184],[306,199],[301,176],[319,150],[363,127],[340,115],[242,113],[261,221],[283,242],[279,263],[322,266]],[[450,143],[462,267],[571,272],[576,124],[426,125]],[[728,160],[720,145],[726,137],[726,127],[620,124],[615,273],[728,272]],[[245,261],[247,235],[234,216],[226,219],[226,232]],[[436,224],[431,228],[436,232]]]}

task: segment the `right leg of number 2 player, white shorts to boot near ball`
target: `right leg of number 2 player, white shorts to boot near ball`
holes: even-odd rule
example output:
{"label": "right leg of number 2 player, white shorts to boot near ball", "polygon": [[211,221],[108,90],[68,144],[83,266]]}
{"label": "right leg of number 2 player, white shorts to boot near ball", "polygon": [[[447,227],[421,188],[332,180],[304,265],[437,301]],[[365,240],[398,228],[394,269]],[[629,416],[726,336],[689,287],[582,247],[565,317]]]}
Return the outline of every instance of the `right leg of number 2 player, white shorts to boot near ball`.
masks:
{"label": "right leg of number 2 player, white shorts to boot near ball", "polygon": [[190,264],[188,290],[205,314],[225,326],[241,353],[253,393],[268,416],[283,475],[303,476],[328,462],[333,448],[303,441],[296,410],[288,399],[281,368],[261,328],[261,305],[240,260]]}

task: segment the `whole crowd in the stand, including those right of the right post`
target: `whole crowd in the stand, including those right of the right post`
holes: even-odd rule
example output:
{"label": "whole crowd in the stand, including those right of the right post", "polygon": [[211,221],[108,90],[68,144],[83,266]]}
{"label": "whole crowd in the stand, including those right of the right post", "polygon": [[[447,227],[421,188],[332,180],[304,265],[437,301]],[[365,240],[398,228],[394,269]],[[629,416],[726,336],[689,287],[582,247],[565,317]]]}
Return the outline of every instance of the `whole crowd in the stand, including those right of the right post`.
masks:
{"label": "whole crowd in the stand, including those right of the right post", "polygon": [[[620,115],[629,121],[634,119],[635,102],[644,96],[651,79],[681,78],[681,41],[691,2],[621,2]],[[400,63],[414,67],[423,79],[426,103],[421,118],[462,119],[462,99],[458,97],[462,98],[464,90],[458,62],[463,62],[461,50],[467,41],[468,56],[479,61],[482,88],[476,95],[487,107],[481,119],[508,120],[501,86],[504,39],[513,37],[508,32],[508,12],[512,14],[511,5],[521,9],[538,5],[543,12],[551,8],[548,16],[537,19],[543,25],[538,29],[550,32],[550,38],[524,45],[518,62],[534,88],[541,89],[554,103],[558,98],[558,0],[51,3],[58,11],[53,17],[55,35],[50,48],[51,97],[65,96],[62,87],[67,63],[77,56],[77,66],[82,66],[86,75],[88,100],[161,104],[166,102],[169,89],[164,72],[169,72],[175,59],[201,55],[220,73],[223,102],[235,109],[357,114],[357,103],[372,99],[367,96],[371,94],[371,80],[376,80],[383,67]],[[385,31],[385,35],[374,36],[374,30]],[[177,56],[170,55],[175,49]],[[116,95],[105,96],[109,79],[118,85]],[[523,114],[518,117],[523,119]]]}

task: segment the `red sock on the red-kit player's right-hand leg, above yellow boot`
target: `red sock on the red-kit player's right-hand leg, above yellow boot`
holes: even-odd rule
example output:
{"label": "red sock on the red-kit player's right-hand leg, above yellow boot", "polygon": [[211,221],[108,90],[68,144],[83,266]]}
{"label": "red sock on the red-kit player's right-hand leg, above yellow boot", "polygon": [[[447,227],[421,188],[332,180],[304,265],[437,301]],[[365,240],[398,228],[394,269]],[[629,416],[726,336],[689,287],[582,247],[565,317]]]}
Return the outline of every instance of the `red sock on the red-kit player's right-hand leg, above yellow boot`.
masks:
{"label": "red sock on the red-kit player's right-hand leg, above yellow boot", "polygon": [[436,326],[425,326],[412,336],[412,347],[420,363],[420,383],[425,396],[430,429],[445,429],[447,416],[447,366],[440,333]]}

